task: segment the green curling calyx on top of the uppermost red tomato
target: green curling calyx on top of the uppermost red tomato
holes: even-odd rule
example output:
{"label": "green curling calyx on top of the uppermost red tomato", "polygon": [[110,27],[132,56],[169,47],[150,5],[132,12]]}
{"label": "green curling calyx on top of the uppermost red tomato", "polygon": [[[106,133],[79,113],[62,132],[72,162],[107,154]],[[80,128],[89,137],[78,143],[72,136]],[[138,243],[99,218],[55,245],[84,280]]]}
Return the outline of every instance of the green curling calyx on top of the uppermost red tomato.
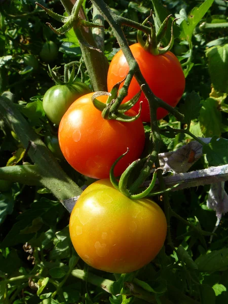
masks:
{"label": "green curling calyx on top of the uppermost red tomato", "polygon": [[148,19],[152,16],[152,13],[150,12],[150,15],[143,21],[143,25],[145,23],[148,23],[150,25],[151,28],[151,33],[147,35],[146,41],[144,42],[142,39],[142,32],[140,30],[138,30],[137,32],[137,40],[138,43],[143,47],[143,49],[147,52],[150,52],[151,54],[157,56],[157,55],[162,55],[167,53],[168,51],[171,50],[171,48],[173,47],[174,44],[174,35],[173,35],[173,24],[174,22],[178,19],[175,18],[172,21],[172,25],[171,25],[171,39],[169,44],[164,47],[161,48],[161,41],[166,33],[167,30],[167,26],[168,26],[168,22],[169,22],[169,18],[172,15],[169,15],[166,17],[166,19],[163,21],[163,23],[161,24],[157,34],[156,34],[156,30],[155,30],[155,26],[148,21]]}

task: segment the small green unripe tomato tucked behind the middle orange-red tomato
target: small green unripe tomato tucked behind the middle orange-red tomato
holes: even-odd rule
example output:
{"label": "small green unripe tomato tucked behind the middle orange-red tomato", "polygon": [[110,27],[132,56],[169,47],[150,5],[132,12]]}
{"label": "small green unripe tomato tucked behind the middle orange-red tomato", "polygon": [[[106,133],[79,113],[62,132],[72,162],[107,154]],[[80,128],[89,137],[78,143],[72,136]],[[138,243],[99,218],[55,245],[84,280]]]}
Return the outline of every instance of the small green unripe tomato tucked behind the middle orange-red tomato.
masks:
{"label": "small green unripe tomato tucked behind the middle orange-red tomato", "polygon": [[53,124],[59,125],[69,106],[79,97],[90,93],[90,88],[84,83],[72,85],[56,85],[48,89],[44,95],[43,108]]}

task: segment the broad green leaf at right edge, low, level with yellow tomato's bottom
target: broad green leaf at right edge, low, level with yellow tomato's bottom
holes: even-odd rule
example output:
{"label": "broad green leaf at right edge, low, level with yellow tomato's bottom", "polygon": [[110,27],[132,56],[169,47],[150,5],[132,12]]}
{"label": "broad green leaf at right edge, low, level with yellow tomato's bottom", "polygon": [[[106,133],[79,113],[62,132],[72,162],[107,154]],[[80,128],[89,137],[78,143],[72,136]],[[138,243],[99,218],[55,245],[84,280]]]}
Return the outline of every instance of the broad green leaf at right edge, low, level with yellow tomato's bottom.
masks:
{"label": "broad green leaf at right edge, low, level with yellow tomato's bottom", "polygon": [[215,272],[228,267],[228,249],[214,250],[195,260],[200,272]]}

